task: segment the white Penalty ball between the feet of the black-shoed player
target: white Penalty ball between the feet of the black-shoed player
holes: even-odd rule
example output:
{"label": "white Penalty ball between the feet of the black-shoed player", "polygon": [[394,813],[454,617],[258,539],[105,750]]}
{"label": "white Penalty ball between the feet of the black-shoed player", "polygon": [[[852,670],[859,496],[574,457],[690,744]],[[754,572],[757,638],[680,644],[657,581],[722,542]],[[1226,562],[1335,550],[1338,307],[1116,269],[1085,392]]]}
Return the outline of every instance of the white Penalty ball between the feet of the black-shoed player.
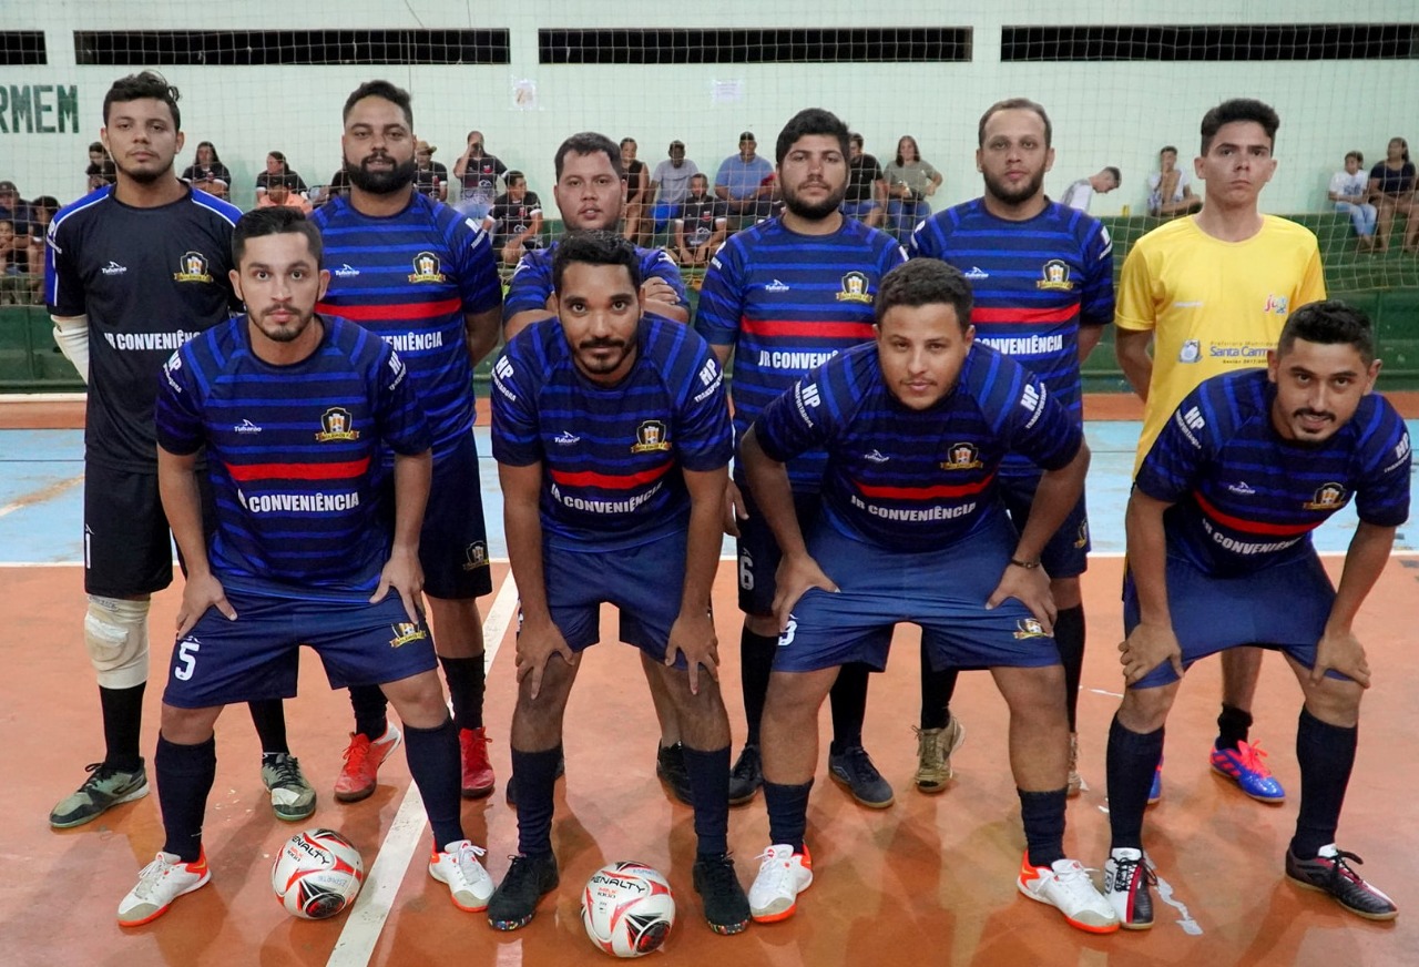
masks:
{"label": "white Penalty ball between the feet of the black-shoed player", "polygon": [[675,897],[666,878],[644,863],[607,863],[582,890],[582,926],[613,957],[658,950],[675,923]]}

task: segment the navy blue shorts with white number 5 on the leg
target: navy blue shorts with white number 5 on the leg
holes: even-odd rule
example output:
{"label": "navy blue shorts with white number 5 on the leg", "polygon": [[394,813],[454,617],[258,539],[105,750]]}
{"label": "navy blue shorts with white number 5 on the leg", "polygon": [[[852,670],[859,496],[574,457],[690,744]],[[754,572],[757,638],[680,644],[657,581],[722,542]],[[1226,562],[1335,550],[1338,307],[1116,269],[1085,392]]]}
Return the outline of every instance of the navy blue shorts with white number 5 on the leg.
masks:
{"label": "navy blue shorts with white number 5 on the leg", "polygon": [[409,623],[399,595],[382,602],[297,601],[227,591],[237,621],[216,608],[173,646],[163,701],[211,709],[295,696],[301,645],[325,665],[332,689],[399,682],[437,667],[433,636]]}

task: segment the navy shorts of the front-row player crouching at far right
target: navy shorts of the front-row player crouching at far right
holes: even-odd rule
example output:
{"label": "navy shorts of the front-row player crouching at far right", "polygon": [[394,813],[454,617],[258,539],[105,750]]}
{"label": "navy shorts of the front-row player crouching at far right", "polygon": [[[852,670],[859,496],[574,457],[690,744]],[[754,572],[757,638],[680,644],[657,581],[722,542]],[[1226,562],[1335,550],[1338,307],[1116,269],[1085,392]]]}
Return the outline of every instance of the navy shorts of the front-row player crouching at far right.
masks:
{"label": "navy shorts of the front-row player crouching at far right", "polygon": [[[1191,561],[1168,555],[1168,612],[1185,670],[1198,659],[1242,645],[1284,652],[1314,667],[1315,645],[1334,601],[1335,588],[1314,552],[1235,578],[1203,574]],[[1125,574],[1124,632],[1137,625],[1138,591],[1132,574]],[[1340,672],[1325,674],[1349,680]],[[1176,680],[1172,663],[1164,662],[1130,687],[1155,689]]]}

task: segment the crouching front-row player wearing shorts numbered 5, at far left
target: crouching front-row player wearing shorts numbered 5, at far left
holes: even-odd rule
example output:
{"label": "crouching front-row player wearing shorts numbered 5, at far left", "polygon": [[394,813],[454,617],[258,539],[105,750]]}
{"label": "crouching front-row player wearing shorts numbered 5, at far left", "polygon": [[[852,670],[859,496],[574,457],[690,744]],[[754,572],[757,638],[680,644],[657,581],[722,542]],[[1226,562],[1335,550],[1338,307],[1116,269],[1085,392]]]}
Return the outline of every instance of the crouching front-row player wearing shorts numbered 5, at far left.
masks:
{"label": "crouching front-row player wearing shorts numbered 5, at far left", "polygon": [[[492,880],[460,822],[458,736],[420,612],[433,433],[419,390],[382,339],[316,315],[328,275],[321,234],[299,212],[244,214],[231,248],[247,315],[173,354],[159,389],[159,484],[189,569],[155,758],[166,839],[118,922],[148,923],[210,879],[213,724],[231,701],[294,696],[302,643],[332,687],[379,684],[393,701],[434,832],[429,872],[455,906],[481,910]],[[217,504],[210,550],[203,452]]]}

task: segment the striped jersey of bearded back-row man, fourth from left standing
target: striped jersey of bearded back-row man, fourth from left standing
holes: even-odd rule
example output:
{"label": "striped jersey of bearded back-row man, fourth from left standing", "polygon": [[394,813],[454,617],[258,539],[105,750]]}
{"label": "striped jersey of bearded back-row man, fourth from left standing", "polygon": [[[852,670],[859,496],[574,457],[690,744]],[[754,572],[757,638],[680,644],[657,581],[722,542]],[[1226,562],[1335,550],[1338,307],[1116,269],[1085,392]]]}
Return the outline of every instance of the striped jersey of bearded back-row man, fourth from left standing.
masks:
{"label": "striped jersey of bearded back-row man, fourth from left standing", "polygon": [[[884,231],[843,219],[829,236],[790,231],[769,219],[732,236],[700,290],[695,329],[734,348],[734,429],[739,439],[799,376],[873,338],[883,275],[907,260]],[[827,457],[789,463],[797,493],[817,493]]]}

